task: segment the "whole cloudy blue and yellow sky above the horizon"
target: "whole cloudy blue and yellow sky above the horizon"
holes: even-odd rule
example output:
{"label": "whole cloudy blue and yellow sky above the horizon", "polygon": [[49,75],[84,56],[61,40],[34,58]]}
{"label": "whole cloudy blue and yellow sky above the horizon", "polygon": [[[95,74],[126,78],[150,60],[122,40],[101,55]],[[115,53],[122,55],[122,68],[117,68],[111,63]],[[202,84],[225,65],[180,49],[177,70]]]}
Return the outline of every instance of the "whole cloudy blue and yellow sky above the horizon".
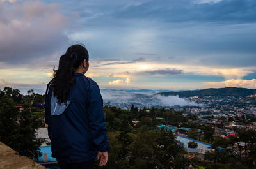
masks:
{"label": "whole cloudy blue and yellow sky above the horizon", "polygon": [[0,0],[0,89],[44,91],[74,43],[102,89],[256,89],[255,0]]}

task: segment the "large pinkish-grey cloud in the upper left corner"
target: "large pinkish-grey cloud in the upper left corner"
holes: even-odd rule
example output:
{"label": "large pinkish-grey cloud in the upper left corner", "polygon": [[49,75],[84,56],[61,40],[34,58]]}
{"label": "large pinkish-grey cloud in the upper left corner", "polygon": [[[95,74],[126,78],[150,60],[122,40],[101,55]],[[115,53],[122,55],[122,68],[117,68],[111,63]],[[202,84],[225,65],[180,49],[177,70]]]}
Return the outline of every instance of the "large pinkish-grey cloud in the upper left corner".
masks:
{"label": "large pinkish-grey cloud in the upper left corner", "polygon": [[47,61],[67,45],[63,31],[68,19],[57,4],[25,1],[8,7],[0,3],[0,8],[0,62],[25,64],[40,57]]}

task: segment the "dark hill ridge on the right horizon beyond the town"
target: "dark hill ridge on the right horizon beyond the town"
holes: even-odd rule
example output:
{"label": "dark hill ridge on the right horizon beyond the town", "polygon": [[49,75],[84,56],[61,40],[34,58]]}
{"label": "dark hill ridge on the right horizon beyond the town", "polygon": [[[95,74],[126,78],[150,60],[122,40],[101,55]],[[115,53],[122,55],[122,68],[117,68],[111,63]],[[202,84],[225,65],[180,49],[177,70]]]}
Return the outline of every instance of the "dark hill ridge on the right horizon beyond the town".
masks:
{"label": "dark hill ridge on the right horizon beyond the town", "polygon": [[180,98],[188,98],[191,96],[235,96],[246,97],[251,94],[256,94],[256,89],[246,89],[240,87],[225,87],[225,88],[210,88],[195,91],[179,91],[179,92],[159,92],[162,96],[177,96]]}

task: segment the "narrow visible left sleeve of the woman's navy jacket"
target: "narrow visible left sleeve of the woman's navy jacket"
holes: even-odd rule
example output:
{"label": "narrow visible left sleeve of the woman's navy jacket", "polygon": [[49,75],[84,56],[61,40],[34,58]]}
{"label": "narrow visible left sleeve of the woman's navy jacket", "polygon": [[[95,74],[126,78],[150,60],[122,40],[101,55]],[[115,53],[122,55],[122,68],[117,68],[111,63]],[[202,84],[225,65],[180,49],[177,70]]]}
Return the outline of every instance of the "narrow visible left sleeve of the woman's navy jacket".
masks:
{"label": "narrow visible left sleeve of the woman's navy jacket", "polygon": [[47,85],[46,91],[45,91],[45,123],[48,125],[48,136],[51,140],[51,90],[50,90],[51,82]]}

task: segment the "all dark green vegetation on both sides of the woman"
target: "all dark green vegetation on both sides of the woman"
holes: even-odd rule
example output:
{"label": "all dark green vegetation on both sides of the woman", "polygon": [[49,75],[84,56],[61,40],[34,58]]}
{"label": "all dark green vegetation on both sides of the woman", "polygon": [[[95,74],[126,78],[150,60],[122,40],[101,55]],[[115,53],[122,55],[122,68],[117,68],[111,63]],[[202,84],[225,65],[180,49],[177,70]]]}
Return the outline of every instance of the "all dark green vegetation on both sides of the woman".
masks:
{"label": "all dark green vegetation on both sides of the woman", "polygon": [[[44,121],[44,95],[32,90],[26,96],[18,89],[4,87],[0,91],[0,141],[9,145],[22,155],[36,154],[44,140],[36,140],[35,129]],[[22,105],[24,110],[15,107]],[[237,136],[229,139],[214,137],[214,128],[199,124],[196,115],[182,115],[171,109],[138,108],[131,110],[104,107],[110,143],[109,160],[104,168],[255,168],[256,132],[234,128]],[[205,117],[211,119],[212,116]],[[238,117],[237,117],[238,118]],[[132,120],[140,121],[138,123]],[[221,119],[233,121],[236,119]],[[250,119],[240,119],[250,121]],[[211,143],[215,151],[207,152],[206,161],[189,159],[182,143],[158,124],[170,124],[191,128],[188,136],[195,140]],[[245,150],[241,151],[241,142]],[[238,145],[238,152],[233,148]],[[189,142],[189,147],[197,147]],[[221,147],[221,148],[220,148]],[[96,159],[95,159],[96,161]],[[95,163],[95,168],[99,168]]]}

